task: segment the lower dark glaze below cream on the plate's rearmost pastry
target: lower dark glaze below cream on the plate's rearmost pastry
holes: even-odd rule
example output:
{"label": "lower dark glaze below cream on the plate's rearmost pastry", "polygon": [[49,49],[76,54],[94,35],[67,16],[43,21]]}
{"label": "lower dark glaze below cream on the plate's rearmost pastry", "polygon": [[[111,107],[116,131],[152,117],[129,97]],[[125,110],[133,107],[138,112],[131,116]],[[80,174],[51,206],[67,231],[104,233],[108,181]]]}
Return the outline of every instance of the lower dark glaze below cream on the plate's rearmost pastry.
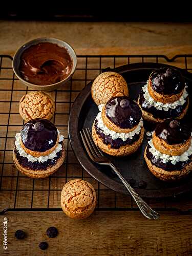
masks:
{"label": "lower dark glaze below cream on the plate's rearmost pastry", "polygon": [[168,109],[168,111],[164,111],[164,110],[157,110],[155,108],[155,106],[148,106],[145,103],[145,99],[143,97],[144,92],[141,90],[140,92],[140,97],[139,97],[139,104],[142,106],[142,109],[147,111],[148,113],[151,113],[155,118],[161,118],[161,119],[165,119],[165,118],[176,118],[178,116],[180,116],[183,111],[185,110],[187,103],[188,103],[188,97],[186,98],[186,101],[183,105],[178,105],[176,106],[175,109]]}

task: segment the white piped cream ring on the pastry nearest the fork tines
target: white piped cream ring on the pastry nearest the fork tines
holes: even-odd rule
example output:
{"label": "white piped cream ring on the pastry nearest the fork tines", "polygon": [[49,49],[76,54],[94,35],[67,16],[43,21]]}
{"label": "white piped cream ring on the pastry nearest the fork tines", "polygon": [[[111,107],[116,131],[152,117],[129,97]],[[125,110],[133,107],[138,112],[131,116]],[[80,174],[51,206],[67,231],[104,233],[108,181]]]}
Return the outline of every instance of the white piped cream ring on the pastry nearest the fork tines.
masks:
{"label": "white piped cream ring on the pastry nearest the fork tines", "polygon": [[135,134],[139,134],[140,131],[141,131],[141,127],[143,126],[143,119],[141,118],[139,124],[137,125],[137,127],[130,133],[116,133],[110,129],[108,129],[108,127],[106,127],[103,123],[103,120],[102,120],[102,115],[101,115],[101,112],[102,112],[102,108],[103,108],[104,104],[100,104],[98,106],[99,108],[99,113],[97,114],[97,121],[98,121],[98,124],[97,124],[97,127],[99,127],[99,129],[101,129],[101,131],[104,133],[104,135],[110,135],[112,140],[115,140],[115,139],[122,139],[122,141],[125,141],[126,139],[132,139],[134,137]]}

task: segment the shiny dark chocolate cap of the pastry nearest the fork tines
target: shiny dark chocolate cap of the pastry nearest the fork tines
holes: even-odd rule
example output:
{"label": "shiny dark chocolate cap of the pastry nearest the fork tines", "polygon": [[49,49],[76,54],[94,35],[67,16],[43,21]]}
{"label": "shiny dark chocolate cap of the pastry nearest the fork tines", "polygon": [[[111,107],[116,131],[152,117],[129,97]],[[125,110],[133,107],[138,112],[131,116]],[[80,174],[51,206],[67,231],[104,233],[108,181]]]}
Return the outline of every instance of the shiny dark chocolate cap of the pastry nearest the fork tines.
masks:
{"label": "shiny dark chocolate cap of the pastry nearest the fork tines", "polygon": [[142,116],[139,105],[126,96],[111,98],[106,103],[105,113],[121,129],[132,129]]}

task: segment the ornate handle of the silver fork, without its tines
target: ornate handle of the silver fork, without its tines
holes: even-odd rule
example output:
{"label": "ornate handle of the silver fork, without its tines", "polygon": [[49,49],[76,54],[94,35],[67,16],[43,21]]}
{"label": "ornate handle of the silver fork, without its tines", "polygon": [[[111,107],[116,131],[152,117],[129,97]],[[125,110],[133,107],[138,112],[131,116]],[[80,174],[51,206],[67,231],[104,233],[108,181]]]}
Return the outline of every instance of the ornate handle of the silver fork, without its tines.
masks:
{"label": "ornate handle of the silver fork, without its tines", "polygon": [[148,219],[158,219],[159,214],[155,210],[153,210],[132,188],[132,186],[123,178],[123,176],[119,173],[118,169],[115,167],[113,163],[110,163],[111,168],[114,170],[114,172],[117,174],[119,179],[122,181],[123,185],[126,187],[126,189],[129,191],[130,195],[133,197],[134,201],[138,205],[140,211],[142,214],[148,218]]}

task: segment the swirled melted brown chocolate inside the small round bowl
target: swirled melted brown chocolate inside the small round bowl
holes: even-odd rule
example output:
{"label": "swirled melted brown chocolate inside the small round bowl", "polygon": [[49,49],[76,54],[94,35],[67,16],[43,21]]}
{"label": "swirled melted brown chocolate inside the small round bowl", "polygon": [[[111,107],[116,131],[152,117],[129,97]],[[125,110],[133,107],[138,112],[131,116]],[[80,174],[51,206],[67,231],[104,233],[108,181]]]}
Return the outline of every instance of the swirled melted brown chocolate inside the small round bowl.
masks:
{"label": "swirled melted brown chocolate inside the small round bowl", "polygon": [[31,46],[20,57],[20,75],[28,82],[46,86],[67,77],[73,61],[64,47],[51,42]]}

